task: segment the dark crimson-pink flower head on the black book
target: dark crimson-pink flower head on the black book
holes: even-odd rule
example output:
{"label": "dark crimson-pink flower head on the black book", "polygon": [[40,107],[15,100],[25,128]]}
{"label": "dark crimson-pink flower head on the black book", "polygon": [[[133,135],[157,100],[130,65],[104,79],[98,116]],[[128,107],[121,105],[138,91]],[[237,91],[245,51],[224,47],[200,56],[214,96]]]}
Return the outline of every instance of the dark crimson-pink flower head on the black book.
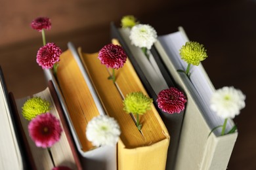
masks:
{"label": "dark crimson-pink flower head on the black book", "polygon": [[185,108],[186,97],[177,88],[169,88],[158,93],[158,107],[164,112],[173,114],[180,113]]}

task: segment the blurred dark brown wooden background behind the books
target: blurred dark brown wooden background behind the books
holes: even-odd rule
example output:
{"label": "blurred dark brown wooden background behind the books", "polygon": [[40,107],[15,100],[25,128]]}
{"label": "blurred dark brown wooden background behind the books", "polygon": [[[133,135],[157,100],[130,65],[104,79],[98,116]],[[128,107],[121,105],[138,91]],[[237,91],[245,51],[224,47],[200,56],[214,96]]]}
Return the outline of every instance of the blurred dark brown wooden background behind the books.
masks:
{"label": "blurred dark brown wooden background behind the books", "polygon": [[119,25],[127,14],[152,25],[158,35],[184,27],[190,40],[207,49],[203,66],[215,88],[234,86],[245,93],[246,107],[234,119],[239,133],[228,169],[256,169],[255,0],[1,0],[0,65],[9,91],[18,98],[46,87],[35,61],[42,41],[30,27],[34,18],[51,18],[47,42],[66,50],[72,41],[84,52],[97,52],[110,42],[110,22]]}

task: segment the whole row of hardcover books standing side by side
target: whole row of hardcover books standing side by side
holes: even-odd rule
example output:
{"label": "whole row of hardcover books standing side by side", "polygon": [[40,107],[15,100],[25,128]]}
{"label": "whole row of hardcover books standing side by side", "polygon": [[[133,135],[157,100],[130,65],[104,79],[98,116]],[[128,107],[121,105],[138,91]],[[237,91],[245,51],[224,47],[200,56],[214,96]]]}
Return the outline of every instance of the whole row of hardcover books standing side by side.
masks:
{"label": "whole row of hardcover books standing side by side", "polygon": [[[116,70],[115,84],[108,80],[110,70],[100,63],[98,52],[87,54],[68,42],[56,76],[45,70],[49,87],[34,95],[52,101],[51,112],[62,122],[64,135],[52,149],[54,164],[72,169],[226,169],[238,133],[221,136],[217,129],[209,135],[224,120],[209,109],[215,88],[202,64],[191,68],[190,78],[177,71],[186,68],[179,56],[179,49],[188,41],[182,27],[158,37],[150,60],[131,44],[129,29],[113,23],[110,28],[112,43],[121,45],[127,54],[125,65]],[[31,141],[28,122],[21,116],[22,105],[30,97],[14,99],[9,95],[2,71],[1,86],[0,106],[6,110],[0,119],[5,126],[1,135],[6,136],[1,148],[13,149],[1,150],[0,156],[5,159],[1,169],[53,168],[49,153]],[[158,108],[158,93],[170,87],[186,95],[185,110],[179,114]],[[123,99],[131,92],[142,92],[153,99],[151,110],[141,117],[141,131],[123,110]],[[87,124],[98,115],[117,120],[121,135],[116,146],[95,147],[87,139]],[[227,130],[232,126],[234,122],[228,121]]]}

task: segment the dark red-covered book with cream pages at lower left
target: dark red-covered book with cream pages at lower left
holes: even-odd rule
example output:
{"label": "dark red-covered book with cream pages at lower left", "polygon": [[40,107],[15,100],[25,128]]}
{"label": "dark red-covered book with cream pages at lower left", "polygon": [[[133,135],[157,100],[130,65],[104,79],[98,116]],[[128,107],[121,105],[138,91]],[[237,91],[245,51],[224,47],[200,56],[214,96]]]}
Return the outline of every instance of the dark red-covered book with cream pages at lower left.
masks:
{"label": "dark red-covered book with cream pages at lower left", "polygon": [[[14,96],[12,93],[11,95]],[[60,120],[63,131],[60,140],[51,146],[51,153],[48,152],[47,148],[41,148],[35,145],[28,133],[29,121],[22,116],[24,103],[32,97],[41,97],[41,99],[49,101],[51,104],[51,110],[49,112]],[[67,126],[66,118],[64,117],[54,90],[53,82],[49,81],[48,87],[45,90],[35,93],[32,96],[22,97],[20,99],[12,97],[12,107],[14,108],[16,120],[18,120],[19,133],[22,134],[23,141],[26,143],[24,147],[26,148],[28,157],[30,157],[32,169],[53,169],[54,166],[82,169],[77,151],[75,150],[74,141],[70,134],[70,129]]]}

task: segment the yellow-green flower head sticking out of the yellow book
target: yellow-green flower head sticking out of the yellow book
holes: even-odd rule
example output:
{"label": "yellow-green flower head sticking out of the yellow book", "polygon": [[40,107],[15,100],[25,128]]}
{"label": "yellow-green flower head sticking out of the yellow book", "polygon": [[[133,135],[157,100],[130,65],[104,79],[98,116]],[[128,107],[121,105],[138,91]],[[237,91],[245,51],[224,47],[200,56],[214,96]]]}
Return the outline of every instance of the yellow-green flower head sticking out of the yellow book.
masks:
{"label": "yellow-green flower head sticking out of the yellow book", "polygon": [[147,97],[142,92],[131,92],[126,95],[125,99],[123,100],[123,105],[125,110],[128,114],[144,114],[146,110],[151,109],[151,104],[153,99]]}

